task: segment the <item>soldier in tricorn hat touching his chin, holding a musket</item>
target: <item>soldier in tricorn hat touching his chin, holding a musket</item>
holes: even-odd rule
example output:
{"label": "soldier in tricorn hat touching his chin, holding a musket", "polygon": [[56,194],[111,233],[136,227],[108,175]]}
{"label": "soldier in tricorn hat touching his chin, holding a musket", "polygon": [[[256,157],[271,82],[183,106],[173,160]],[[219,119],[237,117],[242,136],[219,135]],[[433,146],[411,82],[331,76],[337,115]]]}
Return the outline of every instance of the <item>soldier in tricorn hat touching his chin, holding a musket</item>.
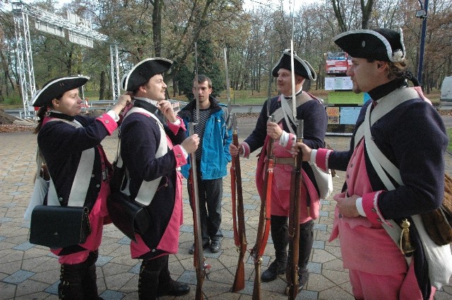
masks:
{"label": "soldier in tricorn hat touching his chin, holding a musket", "polygon": [[[139,299],[181,296],[189,286],[172,280],[168,254],[179,247],[182,225],[182,175],[179,167],[196,151],[199,138],[186,138],[182,119],[165,100],[167,85],[162,73],[172,65],[165,58],[147,58],[136,64],[123,80],[133,93],[133,108],[121,125],[121,157],[129,175],[126,189],[131,199],[143,204],[152,224],[131,241],[132,258],[141,258]],[[160,115],[165,116],[167,122]]]}

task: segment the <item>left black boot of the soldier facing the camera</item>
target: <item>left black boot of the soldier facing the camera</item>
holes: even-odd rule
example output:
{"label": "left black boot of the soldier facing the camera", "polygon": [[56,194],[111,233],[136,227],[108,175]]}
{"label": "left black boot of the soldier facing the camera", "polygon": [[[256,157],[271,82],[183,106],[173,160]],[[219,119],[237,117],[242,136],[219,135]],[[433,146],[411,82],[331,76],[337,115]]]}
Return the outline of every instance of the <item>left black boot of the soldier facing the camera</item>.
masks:
{"label": "left black boot of the soldier facing the camera", "polygon": [[270,263],[268,269],[262,273],[261,280],[263,282],[273,281],[278,275],[285,274],[285,268],[287,266],[287,244],[289,244],[287,217],[272,215],[270,231],[271,238],[273,239],[273,247],[275,248],[275,261]]}

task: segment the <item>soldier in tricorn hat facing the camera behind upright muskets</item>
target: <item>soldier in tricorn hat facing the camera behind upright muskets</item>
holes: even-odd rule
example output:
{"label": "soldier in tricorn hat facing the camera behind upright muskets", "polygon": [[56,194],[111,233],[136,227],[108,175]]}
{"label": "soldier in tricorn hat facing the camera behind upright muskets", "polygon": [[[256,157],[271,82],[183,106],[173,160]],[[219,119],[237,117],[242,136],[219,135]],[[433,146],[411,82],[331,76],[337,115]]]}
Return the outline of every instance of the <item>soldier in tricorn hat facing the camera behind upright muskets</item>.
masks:
{"label": "soldier in tricorn hat facing the camera behind upright muskets", "polygon": [[[273,68],[272,74],[277,77],[278,92],[270,101],[270,113],[274,115],[275,122],[270,122],[267,113],[267,101],[263,104],[261,114],[256,123],[256,128],[239,147],[230,144],[232,156],[240,154],[249,158],[249,154],[262,147],[256,170],[256,186],[261,195],[263,191],[263,177],[266,144],[273,139],[273,156],[275,168],[273,169],[273,182],[271,192],[271,237],[275,248],[275,260],[270,263],[268,269],[262,273],[264,282],[275,280],[278,275],[285,274],[287,265],[287,216],[289,215],[290,173],[293,166],[293,158],[290,153],[296,135],[296,120],[292,113],[292,73],[290,50],[285,50],[280,60]],[[316,72],[307,61],[294,54],[295,66],[295,91],[297,119],[304,120],[304,142],[311,148],[317,149],[324,146],[327,115],[323,103],[315,96],[302,90],[304,80],[316,80]],[[302,165],[304,171],[302,196],[300,199],[299,218],[299,289],[306,285],[309,278],[307,264],[314,242],[314,221],[319,215],[319,188],[314,179],[314,174],[308,163]],[[310,210],[307,211],[307,199],[310,199]]]}

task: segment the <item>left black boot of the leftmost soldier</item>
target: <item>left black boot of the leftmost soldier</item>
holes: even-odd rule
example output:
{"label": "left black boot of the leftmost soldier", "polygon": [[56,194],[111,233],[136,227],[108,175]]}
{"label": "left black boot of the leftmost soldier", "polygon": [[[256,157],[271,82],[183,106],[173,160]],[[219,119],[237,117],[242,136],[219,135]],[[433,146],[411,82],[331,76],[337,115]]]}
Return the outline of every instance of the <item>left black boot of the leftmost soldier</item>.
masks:
{"label": "left black boot of the leftmost soldier", "polygon": [[75,265],[61,264],[58,297],[64,300],[83,299],[83,277],[85,277],[86,263]]}

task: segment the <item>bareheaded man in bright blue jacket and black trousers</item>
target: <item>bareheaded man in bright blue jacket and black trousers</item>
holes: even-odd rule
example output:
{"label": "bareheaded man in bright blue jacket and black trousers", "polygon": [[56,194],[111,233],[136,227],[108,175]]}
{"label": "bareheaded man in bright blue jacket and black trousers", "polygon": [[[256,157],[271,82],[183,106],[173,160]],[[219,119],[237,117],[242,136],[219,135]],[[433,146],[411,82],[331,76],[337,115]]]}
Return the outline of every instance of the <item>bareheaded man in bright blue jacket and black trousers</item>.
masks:
{"label": "bareheaded man in bright blue jacket and black trousers", "polygon": [[[193,92],[198,94],[199,120],[196,119],[196,99],[191,101],[180,112],[179,116],[186,126],[195,122],[194,133],[199,136],[199,146],[196,150],[196,170],[198,171],[198,196],[201,217],[201,236],[203,249],[210,246],[210,251],[221,250],[221,199],[223,177],[227,174],[226,165],[231,161],[229,144],[232,141],[231,129],[228,126],[227,109],[218,103],[212,94],[212,81],[206,75],[198,75],[198,93],[196,79]],[[192,134],[192,132],[190,132]],[[189,177],[190,163],[182,166],[182,174]],[[188,185],[190,205],[191,187]],[[211,244],[210,244],[211,241]],[[189,250],[194,254],[194,244]]]}

